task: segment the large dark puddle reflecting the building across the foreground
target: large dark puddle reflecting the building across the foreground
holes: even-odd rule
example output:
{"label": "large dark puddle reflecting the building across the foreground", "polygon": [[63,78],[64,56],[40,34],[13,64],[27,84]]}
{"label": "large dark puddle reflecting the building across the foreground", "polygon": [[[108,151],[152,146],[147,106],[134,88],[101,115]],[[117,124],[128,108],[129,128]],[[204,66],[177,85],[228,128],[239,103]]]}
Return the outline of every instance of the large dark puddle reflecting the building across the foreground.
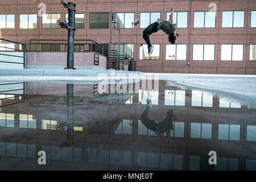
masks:
{"label": "large dark puddle reflecting the building across the foreground", "polygon": [[111,88],[0,83],[0,169],[256,170],[256,109],[166,81]]}

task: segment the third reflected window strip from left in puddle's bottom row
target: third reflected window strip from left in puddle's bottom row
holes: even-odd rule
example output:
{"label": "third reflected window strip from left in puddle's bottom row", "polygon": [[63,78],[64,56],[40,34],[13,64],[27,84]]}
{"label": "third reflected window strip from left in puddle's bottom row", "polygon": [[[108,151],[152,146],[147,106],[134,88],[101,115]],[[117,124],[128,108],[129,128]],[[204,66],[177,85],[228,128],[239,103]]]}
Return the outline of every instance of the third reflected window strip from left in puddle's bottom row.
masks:
{"label": "third reflected window strip from left in puddle's bottom row", "polygon": [[131,166],[131,151],[88,148],[88,163]]}

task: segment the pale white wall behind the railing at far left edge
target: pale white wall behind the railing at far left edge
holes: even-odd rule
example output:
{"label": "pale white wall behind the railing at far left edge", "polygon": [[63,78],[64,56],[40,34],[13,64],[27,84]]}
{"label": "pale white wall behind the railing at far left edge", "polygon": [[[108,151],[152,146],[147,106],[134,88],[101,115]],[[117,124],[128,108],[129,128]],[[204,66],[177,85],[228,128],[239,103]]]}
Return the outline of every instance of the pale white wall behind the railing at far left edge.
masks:
{"label": "pale white wall behind the railing at far left edge", "polygon": [[[23,52],[0,51],[0,53],[6,54],[6,55],[23,56]],[[0,62],[0,69],[23,69],[23,64],[15,64],[15,63],[23,63],[23,57],[14,57],[14,56],[0,55],[0,61],[14,62],[14,63]]]}

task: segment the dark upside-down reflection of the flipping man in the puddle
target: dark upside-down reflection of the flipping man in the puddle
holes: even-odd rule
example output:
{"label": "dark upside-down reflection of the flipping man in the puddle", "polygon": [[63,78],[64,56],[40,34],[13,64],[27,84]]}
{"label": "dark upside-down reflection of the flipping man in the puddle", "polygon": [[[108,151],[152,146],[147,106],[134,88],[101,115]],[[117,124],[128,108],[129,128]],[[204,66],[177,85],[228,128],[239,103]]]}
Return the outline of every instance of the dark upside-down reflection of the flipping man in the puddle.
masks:
{"label": "dark upside-down reflection of the flipping man in the puddle", "polygon": [[168,136],[168,134],[170,134],[170,130],[174,130],[174,110],[169,110],[166,114],[166,118],[162,122],[157,123],[156,121],[147,118],[148,110],[150,110],[150,108],[152,108],[151,100],[147,99],[147,106],[141,115],[141,122],[148,129],[155,131],[155,134],[167,132]]}

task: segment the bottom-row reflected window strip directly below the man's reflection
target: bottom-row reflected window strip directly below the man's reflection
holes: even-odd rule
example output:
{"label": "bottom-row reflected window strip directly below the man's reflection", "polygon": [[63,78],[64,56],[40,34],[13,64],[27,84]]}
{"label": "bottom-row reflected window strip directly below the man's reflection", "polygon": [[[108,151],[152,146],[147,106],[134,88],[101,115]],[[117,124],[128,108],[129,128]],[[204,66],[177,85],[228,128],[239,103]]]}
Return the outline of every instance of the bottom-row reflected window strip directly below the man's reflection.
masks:
{"label": "bottom-row reflected window strip directly below the man's reflection", "polygon": [[137,152],[137,166],[163,169],[183,169],[183,155]]}

